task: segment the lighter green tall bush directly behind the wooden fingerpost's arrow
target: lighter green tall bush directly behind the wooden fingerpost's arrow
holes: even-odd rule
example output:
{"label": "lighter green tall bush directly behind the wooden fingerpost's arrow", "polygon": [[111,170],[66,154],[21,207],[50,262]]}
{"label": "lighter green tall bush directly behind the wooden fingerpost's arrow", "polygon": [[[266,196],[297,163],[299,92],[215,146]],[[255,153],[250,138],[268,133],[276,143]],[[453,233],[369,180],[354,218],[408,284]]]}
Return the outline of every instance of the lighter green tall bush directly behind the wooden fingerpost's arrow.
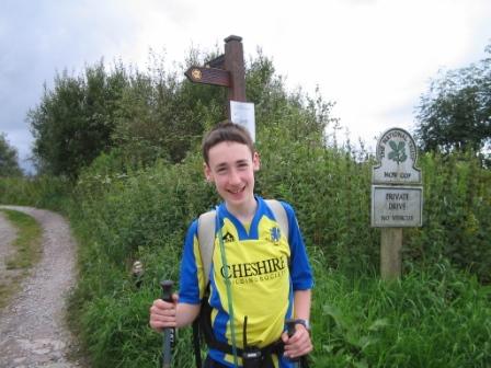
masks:
{"label": "lighter green tall bush directly behind the wooden fingerpost's arrow", "polygon": [[[192,50],[189,66],[213,56]],[[115,120],[113,141],[127,162],[151,164],[156,159],[182,161],[201,141],[208,122],[225,116],[225,92],[196,85],[184,79],[183,70],[165,70],[164,60],[151,53],[148,71],[128,78]]]}

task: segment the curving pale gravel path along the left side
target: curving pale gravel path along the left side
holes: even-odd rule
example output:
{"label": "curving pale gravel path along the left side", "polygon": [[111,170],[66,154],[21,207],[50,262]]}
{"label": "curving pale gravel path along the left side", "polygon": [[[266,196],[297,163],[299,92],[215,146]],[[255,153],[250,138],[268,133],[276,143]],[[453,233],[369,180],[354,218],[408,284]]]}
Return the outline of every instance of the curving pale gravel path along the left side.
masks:
{"label": "curving pale gravel path along the left side", "polygon": [[[76,279],[76,243],[69,226],[61,216],[47,210],[2,207],[37,220],[43,228],[43,256],[23,281],[22,290],[0,311],[0,367],[81,367],[80,361],[67,358],[77,346],[65,323],[65,301]],[[5,240],[14,235],[0,217],[0,252],[8,252]],[[4,258],[3,253],[0,256]]]}

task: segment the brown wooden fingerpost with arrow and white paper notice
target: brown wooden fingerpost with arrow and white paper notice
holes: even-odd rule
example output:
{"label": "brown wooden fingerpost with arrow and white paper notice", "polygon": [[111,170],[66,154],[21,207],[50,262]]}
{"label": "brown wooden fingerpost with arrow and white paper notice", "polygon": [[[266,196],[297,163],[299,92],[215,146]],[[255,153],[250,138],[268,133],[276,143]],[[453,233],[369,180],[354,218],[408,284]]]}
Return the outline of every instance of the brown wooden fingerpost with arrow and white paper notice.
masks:
{"label": "brown wooden fingerpost with arrow and white paper notice", "polygon": [[243,125],[255,140],[254,105],[246,102],[246,67],[242,38],[225,38],[225,54],[206,62],[205,67],[193,66],[184,74],[193,83],[227,88],[227,115],[230,122]]}

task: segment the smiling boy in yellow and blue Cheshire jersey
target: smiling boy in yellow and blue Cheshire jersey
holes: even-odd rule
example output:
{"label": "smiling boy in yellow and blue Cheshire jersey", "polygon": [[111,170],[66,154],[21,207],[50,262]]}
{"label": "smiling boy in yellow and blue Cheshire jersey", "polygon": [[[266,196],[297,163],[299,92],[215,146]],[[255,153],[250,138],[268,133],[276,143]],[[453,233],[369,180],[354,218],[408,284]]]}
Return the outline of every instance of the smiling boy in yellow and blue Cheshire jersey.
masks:
{"label": "smiling boy in yellow and blue Cheshire jersey", "polygon": [[[203,156],[205,177],[224,200],[216,210],[209,297],[195,220],[185,239],[180,295],[173,296],[173,303],[153,301],[150,326],[182,327],[206,309],[205,367],[242,367],[243,350],[250,346],[261,349],[256,367],[293,367],[289,358],[312,349],[308,321],[313,284],[295,212],[281,203],[288,220],[288,233],[282,233],[274,211],[254,195],[260,159],[241,126],[216,126],[203,140]],[[202,307],[203,298],[208,307]],[[296,321],[290,337],[287,319]]]}

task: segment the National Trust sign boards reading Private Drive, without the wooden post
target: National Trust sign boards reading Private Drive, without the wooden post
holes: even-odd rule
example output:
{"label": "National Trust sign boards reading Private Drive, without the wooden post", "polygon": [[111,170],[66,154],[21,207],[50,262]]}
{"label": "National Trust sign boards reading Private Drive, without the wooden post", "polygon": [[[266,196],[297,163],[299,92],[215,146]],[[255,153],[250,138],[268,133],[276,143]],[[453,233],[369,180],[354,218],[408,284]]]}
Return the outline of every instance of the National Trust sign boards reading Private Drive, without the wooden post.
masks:
{"label": "National Trust sign boards reading Private Drive, without the wooden post", "polygon": [[421,227],[423,187],[415,166],[416,146],[400,128],[382,134],[377,143],[378,165],[372,175],[372,226]]}

